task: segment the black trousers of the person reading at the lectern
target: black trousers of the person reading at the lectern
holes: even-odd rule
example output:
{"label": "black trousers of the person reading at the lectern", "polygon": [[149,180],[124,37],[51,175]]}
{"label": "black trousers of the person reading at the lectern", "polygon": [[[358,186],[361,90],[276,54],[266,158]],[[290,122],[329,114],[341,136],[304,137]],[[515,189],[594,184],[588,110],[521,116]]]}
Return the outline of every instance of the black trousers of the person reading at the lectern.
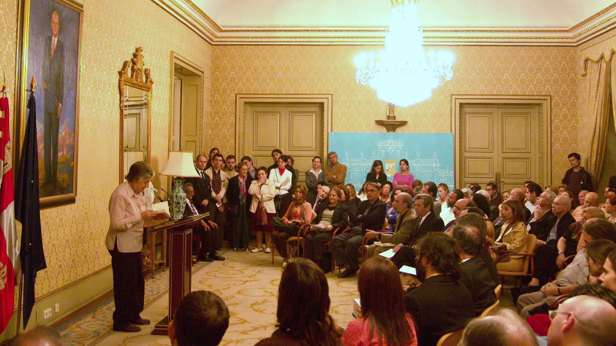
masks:
{"label": "black trousers of the person reading at the lectern", "polygon": [[140,319],[144,311],[145,281],[141,268],[141,252],[120,252],[118,244],[111,255],[113,271],[113,326],[126,327],[132,321]]}

